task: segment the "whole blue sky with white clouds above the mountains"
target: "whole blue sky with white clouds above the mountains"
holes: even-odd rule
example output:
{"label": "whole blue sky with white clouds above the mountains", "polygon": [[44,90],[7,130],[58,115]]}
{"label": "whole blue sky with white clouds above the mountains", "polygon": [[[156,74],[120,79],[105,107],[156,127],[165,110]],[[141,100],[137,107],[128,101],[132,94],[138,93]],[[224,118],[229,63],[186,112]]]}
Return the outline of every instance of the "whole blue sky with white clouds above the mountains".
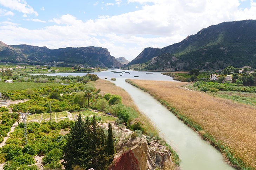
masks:
{"label": "whole blue sky with white clouds above the mountains", "polygon": [[96,46],[131,61],[202,28],[256,19],[256,0],[0,0],[0,41],[50,49]]}

